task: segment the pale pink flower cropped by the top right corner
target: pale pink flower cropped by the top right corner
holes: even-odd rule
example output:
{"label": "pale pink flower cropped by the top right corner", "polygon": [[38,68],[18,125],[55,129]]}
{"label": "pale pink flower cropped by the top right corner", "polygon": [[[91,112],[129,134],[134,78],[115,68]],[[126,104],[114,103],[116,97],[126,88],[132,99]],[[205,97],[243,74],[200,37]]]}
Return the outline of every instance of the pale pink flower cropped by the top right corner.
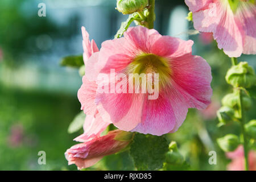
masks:
{"label": "pale pink flower cropped by the top right corner", "polygon": [[229,57],[256,53],[256,7],[246,0],[185,0],[196,30],[213,32]]}

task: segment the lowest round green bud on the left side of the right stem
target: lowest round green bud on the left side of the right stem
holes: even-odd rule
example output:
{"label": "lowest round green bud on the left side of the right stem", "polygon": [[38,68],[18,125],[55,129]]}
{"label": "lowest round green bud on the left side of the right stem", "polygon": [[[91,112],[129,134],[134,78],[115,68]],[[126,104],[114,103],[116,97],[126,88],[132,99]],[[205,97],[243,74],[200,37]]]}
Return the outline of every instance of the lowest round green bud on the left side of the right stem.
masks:
{"label": "lowest round green bud on the left side of the right stem", "polygon": [[236,148],[240,144],[240,141],[239,141],[237,135],[228,134],[222,138],[218,138],[217,143],[218,143],[218,146],[220,146],[220,148],[223,151],[231,152],[231,151],[236,150]]}

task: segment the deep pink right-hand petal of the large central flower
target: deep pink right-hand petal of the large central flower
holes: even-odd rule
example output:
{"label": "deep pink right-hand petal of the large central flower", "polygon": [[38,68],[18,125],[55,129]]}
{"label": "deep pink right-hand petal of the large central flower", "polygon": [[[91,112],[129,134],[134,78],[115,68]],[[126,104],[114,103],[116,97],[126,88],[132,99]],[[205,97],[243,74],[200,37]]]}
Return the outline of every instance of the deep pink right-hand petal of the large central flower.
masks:
{"label": "deep pink right-hand petal of the large central flower", "polygon": [[200,56],[191,53],[170,57],[172,69],[171,85],[184,97],[189,107],[205,109],[212,97],[211,69]]}

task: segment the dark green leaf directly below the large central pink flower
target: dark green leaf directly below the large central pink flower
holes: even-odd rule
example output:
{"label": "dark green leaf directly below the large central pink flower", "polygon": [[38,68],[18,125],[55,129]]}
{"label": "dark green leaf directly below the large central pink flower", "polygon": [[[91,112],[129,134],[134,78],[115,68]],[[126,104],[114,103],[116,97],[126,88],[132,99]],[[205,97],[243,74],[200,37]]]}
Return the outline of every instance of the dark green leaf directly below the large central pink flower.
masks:
{"label": "dark green leaf directly below the large central pink flower", "polygon": [[168,152],[166,139],[154,135],[135,134],[130,155],[138,170],[157,170],[163,167]]}

